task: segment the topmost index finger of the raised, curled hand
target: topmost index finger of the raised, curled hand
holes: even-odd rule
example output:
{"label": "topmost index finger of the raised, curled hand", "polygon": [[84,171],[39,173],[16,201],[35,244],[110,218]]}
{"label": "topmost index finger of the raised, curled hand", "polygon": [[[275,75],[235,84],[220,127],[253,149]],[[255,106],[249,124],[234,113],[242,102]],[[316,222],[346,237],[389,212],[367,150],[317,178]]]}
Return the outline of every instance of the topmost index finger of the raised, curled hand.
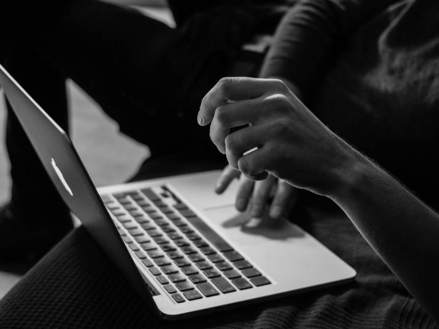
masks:
{"label": "topmost index finger of the raised, curled hand", "polygon": [[257,98],[265,92],[279,87],[286,89],[280,80],[245,77],[223,78],[203,97],[198,112],[198,123],[200,125],[208,124],[212,120],[216,108],[230,100]]}

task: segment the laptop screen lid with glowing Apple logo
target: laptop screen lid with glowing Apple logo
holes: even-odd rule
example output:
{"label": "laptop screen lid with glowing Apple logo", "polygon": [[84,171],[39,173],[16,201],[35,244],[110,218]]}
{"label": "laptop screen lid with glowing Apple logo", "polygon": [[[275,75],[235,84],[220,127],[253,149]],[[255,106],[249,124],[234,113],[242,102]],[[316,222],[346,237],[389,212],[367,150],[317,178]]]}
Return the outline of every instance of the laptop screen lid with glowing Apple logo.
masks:
{"label": "laptop screen lid with glowing Apple logo", "polygon": [[[136,291],[157,309],[157,294],[133,263],[67,134],[0,65],[0,85],[62,199]],[[145,278],[143,278],[146,280]],[[148,288],[149,291],[148,291]]]}

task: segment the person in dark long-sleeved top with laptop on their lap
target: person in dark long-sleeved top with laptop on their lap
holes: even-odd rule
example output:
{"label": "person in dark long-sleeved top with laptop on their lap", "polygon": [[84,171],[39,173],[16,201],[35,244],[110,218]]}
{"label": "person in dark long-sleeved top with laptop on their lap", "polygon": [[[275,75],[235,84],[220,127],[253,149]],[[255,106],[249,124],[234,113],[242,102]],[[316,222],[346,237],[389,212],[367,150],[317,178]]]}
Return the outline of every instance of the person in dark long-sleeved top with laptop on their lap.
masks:
{"label": "person in dark long-sleeved top with laptop on their lap", "polygon": [[[271,173],[275,180],[282,178],[285,186],[297,186],[301,191],[300,202],[289,219],[301,220],[307,232],[352,265],[357,270],[354,283],[236,311],[166,322],[144,306],[80,227],[0,301],[0,324],[136,328],[144,327],[145,323],[151,327],[222,328],[435,327],[437,313],[429,297],[437,291],[437,284],[428,282],[428,292],[423,281],[437,274],[437,257],[430,258],[436,256],[437,249],[431,240],[436,215],[420,199],[437,209],[434,200],[438,179],[438,10],[430,0],[301,2],[286,13],[264,60],[260,77],[268,80],[221,80],[202,104],[202,109],[209,109],[209,115],[203,112],[202,123],[207,124],[213,116],[209,129],[213,126],[213,132],[220,133],[213,134],[221,136],[214,140],[231,160],[234,171],[226,170],[234,177],[235,168],[241,168],[249,176],[249,190],[264,182],[254,181],[266,175],[263,171]],[[263,95],[255,97],[259,91]],[[223,104],[225,97],[209,105],[209,100],[223,92],[230,99],[239,99]],[[249,104],[252,106],[247,107]],[[217,105],[223,110],[217,112]],[[245,108],[242,111],[241,106]],[[227,109],[234,109],[228,112],[233,115],[225,117]],[[240,114],[251,114],[252,118],[248,120]],[[229,138],[229,130],[222,130],[234,120],[234,115],[243,119],[240,122],[252,123],[230,134],[242,139]],[[263,120],[255,122],[253,115],[263,116]],[[226,123],[226,118],[231,121]],[[195,117],[191,119],[195,121]],[[245,124],[238,128],[242,125]],[[261,129],[263,134],[255,134],[255,139],[247,136]],[[207,131],[204,134],[208,138]],[[227,143],[232,141],[227,144],[231,146],[229,151],[226,139]],[[248,144],[240,144],[246,141]],[[247,148],[253,146],[258,149],[242,157],[241,151],[245,149],[243,152],[247,153]],[[212,148],[216,151],[216,147]],[[264,156],[259,157],[261,153]],[[247,165],[246,157],[260,166]],[[197,170],[205,161],[198,161]],[[250,171],[240,167],[241,162]],[[174,163],[159,162],[155,167],[152,162],[145,163],[146,174],[137,177],[150,178],[161,167],[173,168]],[[416,191],[417,197],[388,172]],[[240,179],[242,176],[246,177],[241,175]],[[218,190],[227,186],[228,179],[227,174],[222,176]],[[355,184],[362,179],[367,180]],[[332,204],[325,203],[326,198],[305,193],[304,188],[333,198],[352,221]],[[427,227],[432,227],[432,231]],[[424,239],[420,241],[421,234]],[[417,294],[431,317],[376,251],[399,275],[399,280]],[[414,263],[415,260],[418,262]],[[47,295],[51,298],[43,298]]]}

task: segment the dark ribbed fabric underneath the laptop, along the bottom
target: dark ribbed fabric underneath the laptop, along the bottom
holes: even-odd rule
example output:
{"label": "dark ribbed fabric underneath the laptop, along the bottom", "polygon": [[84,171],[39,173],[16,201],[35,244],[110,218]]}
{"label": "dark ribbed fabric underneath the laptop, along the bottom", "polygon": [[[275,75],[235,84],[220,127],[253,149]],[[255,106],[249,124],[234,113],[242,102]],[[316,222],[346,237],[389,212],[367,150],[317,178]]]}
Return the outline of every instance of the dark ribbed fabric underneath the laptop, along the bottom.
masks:
{"label": "dark ribbed fabric underneath the laptop, along the bottom", "polygon": [[[162,163],[145,162],[137,178]],[[186,163],[189,165],[188,163]],[[204,166],[204,165],[203,165]],[[211,165],[208,169],[214,167]],[[192,165],[196,171],[202,166]],[[186,167],[187,168],[187,167]],[[185,170],[187,172],[188,170]],[[169,171],[168,171],[169,172]],[[180,172],[182,172],[180,170]],[[72,232],[0,301],[0,328],[433,328],[434,323],[328,200],[302,195],[291,214],[353,266],[355,282],[236,310],[161,320],[83,227]]]}

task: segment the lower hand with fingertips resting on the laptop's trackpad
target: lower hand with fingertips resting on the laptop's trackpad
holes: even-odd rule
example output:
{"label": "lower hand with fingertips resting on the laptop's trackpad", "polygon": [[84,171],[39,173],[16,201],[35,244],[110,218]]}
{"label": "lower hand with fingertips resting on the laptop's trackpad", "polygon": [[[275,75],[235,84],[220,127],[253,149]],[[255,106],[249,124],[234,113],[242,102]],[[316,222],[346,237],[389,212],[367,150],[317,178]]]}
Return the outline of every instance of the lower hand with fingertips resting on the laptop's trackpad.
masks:
{"label": "lower hand with fingertips resting on the laptop's trackpad", "polygon": [[263,181],[254,182],[241,172],[227,165],[215,186],[215,192],[223,193],[229,184],[240,177],[235,207],[239,211],[249,209],[250,215],[262,218],[266,213],[273,219],[287,215],[297,200],[297,189],[269,174]]}

